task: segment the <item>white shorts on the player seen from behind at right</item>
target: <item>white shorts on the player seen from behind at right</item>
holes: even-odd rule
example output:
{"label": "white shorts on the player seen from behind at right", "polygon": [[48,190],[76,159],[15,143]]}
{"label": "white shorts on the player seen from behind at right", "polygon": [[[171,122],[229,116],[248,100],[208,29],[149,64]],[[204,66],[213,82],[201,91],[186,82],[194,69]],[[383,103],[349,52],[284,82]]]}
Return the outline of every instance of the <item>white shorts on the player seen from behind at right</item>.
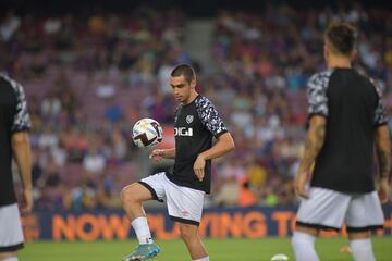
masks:
{"label": "white shorts on the player seen from behind at right", "polygon": [[384,219],[376,191],[343,194],[326,188],[310,187],[309,198],[303,199],[296,223],[302,226],[365,232],[382,228]]}

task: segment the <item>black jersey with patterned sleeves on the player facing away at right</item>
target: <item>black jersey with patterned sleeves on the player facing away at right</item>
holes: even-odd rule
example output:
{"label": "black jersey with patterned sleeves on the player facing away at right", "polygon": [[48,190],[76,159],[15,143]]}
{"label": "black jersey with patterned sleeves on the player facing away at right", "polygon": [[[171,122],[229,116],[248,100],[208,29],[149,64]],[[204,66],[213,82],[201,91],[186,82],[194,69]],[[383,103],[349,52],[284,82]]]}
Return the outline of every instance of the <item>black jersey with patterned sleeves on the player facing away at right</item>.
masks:
{"label": "black jersey with patterned sleeves on the player facing away at right", "polygon": [[375,128],[387,124],[381,92],[353,69],[314,75],[308,83],[309,117],[327,117],[326,139],[310,185],[342,192],[375,190]]}

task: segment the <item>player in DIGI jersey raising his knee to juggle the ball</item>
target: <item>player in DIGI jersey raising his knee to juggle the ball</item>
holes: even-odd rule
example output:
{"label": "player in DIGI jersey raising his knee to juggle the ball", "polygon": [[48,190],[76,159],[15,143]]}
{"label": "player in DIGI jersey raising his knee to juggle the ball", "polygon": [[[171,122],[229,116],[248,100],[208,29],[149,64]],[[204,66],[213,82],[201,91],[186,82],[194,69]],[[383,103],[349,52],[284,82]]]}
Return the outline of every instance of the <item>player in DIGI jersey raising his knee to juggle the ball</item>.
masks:
{"label": "player in DIGI jersey raising his knee to juggle the ball", "polygon": [[[169,215],[179,222],[192,260],[209,260],[197,228],[205,194],[210,192],[211,160],[233,150],[234,141],[211,101],[197,94],[195,72],[189,65],[177,65],[171,73],[170,85],[180,102],[174,116],[175,148],[155,149],[150,158],[174,159],[174,166],[122,190],[123,208],[139,240],[139,246],[124,261],[146,260],[159,252],[142,206],[150,199],[166,199]],[[217,138],[215,145],[212,137]]]}

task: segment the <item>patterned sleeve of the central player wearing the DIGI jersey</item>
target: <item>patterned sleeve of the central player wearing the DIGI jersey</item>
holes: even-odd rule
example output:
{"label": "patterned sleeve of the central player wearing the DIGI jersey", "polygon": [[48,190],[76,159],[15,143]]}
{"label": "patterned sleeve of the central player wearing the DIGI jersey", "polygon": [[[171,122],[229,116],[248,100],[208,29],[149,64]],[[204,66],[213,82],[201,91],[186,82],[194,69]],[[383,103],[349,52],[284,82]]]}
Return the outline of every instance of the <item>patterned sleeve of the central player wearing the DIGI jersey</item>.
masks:
{"label": "patterned sleeve of the central player wearing the DIGI jersey", "polygon": [[196,100],[196,108],[201,123],[215,137],[219,137],[228,132],[228,128],[211,101],[201,97]]}

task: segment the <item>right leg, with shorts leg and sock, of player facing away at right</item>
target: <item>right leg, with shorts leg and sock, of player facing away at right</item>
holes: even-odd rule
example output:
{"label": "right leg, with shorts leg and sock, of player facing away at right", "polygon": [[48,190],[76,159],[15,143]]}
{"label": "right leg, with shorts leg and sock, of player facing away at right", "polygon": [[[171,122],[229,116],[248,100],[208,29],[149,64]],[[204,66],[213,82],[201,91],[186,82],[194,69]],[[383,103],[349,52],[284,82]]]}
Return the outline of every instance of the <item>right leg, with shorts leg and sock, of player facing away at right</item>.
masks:
{"label": "right leg, with shorts leg and sock, of player facing away at right", "polygon": [[383,222],[383,212],[376,191],[352,197],[345,223],[355,261],[376,260],[369,229],[381,228]]}

